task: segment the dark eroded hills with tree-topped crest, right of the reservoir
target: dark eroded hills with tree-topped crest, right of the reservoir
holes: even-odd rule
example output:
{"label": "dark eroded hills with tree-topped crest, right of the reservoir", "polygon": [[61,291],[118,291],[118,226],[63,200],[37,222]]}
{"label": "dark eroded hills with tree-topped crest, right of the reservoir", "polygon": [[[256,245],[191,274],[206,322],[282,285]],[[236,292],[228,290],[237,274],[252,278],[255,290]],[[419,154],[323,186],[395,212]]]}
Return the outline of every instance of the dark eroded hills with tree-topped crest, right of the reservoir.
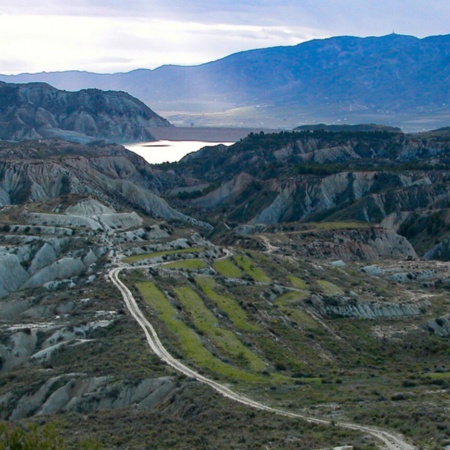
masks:
{"label": "dark eroded hills with tree-topped crest, right of the reservoir", "polygon": [[423,254],[448,235],[449,150],[447,129],[282,132],[206,147],[165,169],[179,176],[170,191],[179,206],[216,223],[360,221],[401,231]]}

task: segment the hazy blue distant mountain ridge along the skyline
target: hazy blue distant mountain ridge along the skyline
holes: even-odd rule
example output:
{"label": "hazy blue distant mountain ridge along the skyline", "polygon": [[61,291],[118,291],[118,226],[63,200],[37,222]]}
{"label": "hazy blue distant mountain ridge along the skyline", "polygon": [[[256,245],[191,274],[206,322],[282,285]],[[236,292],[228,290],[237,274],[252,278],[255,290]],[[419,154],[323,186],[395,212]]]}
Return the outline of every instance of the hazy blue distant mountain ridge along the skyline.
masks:
{"label": "hazy blue distant mountain ridge along the skyline", "polygon": [[378,123],[392,117],[405,119],[399,115],[413,121],[421,115],[450,114],[450,35],[423,39],[397,34],[343,36],[244,51],[199,66],[103,75],[74,71],[22,74],[0,79],[46,81],[72,90],[120,89],[158,105],[166,116],[169,113],[169,119],[170,113],[175,117],[175,111],[186,111],[199,123],[201,115],[194,112],[233,110],[238,120],[243,113],[236,109],[242,107],[255,108],[253,116],[258,117],[254,120],[272,118],[291,126],[364,115]]}

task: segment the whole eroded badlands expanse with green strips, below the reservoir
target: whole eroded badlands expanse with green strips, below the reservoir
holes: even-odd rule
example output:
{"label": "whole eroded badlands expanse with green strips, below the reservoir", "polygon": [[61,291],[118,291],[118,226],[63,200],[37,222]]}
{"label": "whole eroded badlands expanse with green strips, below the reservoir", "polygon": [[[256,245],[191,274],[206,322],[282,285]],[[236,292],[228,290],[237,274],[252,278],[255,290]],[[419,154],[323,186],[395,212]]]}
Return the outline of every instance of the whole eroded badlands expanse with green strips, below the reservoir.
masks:
{"label": "whole eroded badlands expanse with green strips, below the reservoir", "polygon": [[448,142],[2,143],[1,419],[67,448],[446,448]]}

